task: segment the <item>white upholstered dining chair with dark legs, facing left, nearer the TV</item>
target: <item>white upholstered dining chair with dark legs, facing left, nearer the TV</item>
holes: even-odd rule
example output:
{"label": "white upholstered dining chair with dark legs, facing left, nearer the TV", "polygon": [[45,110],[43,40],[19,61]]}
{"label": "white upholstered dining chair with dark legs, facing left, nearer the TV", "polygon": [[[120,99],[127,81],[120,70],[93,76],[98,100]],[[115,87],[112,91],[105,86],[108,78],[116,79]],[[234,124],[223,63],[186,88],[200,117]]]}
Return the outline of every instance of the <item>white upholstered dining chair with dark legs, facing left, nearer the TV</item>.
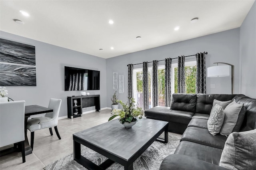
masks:
{"label": "white upholstered dining chair with dark legs, facing left, nearer the TV", "polygon": [[60,134],[58,132],[58,116],[60,113],[60,105],[61,105],[61,99],[50,99],[49,102],[49,109],[53,109],[53,112],[46,113],[45,117],[36,117],[32,118],[27,121],[27,129],[31,133],[31,140],[30,140],[30,146],[33,150],[34,146],[34,132],[36,130],[41,130],[44,128],[49,128],[51,136],[53,135],[52,133],[52,127],[54,127],[55,132],[58,136],[59,139],[61,139]]}

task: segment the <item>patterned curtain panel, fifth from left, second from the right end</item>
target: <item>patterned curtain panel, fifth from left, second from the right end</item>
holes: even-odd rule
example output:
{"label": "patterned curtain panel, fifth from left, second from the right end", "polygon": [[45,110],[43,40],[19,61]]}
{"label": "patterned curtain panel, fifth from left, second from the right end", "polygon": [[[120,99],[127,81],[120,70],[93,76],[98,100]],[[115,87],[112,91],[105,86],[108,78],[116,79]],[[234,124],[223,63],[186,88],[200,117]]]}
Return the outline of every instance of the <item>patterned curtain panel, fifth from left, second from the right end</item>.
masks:
{"label": "patterned curtain panel, fifth from left, second from the right end", "polygon": [[185,56],[178,57],[178,93],[186,93],[186,89],[185,89]]}

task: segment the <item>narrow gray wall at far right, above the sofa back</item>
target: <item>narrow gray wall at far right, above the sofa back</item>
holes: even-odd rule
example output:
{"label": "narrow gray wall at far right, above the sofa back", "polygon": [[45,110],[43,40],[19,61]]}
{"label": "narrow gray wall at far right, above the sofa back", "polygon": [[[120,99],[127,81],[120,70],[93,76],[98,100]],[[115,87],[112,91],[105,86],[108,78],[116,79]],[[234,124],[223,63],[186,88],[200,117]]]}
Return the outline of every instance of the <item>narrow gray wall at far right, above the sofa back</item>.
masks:
{"label": "narrow gray wall at far right, above the sofa back", "polygon": [[240,27],[241,93],[256,98],[256,2]]}

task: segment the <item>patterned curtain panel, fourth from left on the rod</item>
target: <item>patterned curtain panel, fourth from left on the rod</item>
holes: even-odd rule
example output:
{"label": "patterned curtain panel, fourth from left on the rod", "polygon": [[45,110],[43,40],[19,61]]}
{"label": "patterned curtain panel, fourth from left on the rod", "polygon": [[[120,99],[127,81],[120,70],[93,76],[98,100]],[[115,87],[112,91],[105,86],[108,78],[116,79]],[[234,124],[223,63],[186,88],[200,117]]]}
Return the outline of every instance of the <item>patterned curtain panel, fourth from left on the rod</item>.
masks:
{"label": "patterned curtain panel, fourth from left on the rod", "polygon": [[165,59],[165,85],[164,85],[164,100],[165,100],[165,106],[170,107],[172,102],[172,59],[166,58]]}

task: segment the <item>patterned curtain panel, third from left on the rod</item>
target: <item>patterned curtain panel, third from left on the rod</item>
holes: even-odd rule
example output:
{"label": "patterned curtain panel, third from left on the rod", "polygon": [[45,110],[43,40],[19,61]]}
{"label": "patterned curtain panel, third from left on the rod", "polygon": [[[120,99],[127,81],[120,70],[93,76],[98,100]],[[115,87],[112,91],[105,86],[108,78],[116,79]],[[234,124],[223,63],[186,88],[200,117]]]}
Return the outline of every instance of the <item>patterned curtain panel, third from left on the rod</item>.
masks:
{"label": "patterned curtain panel, third from left on the rod", "polygon": [[158,106],[158,61],[153,61],[152,70],[152,101],[153,107]]}

